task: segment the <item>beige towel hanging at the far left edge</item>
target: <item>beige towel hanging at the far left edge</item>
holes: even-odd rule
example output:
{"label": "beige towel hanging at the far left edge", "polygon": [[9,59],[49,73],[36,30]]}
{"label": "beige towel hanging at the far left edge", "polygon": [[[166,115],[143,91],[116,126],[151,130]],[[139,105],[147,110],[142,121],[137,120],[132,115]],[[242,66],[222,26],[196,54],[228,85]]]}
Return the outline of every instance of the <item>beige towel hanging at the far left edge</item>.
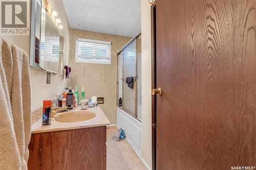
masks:
{"label": "beige towel hanging at the far left edge", "polygon": [[1,38],[0,42],[0,90],[5,94],[1,94],[5,100],[1,100],[0,114],[5,124],[0,124],[0,169],[27,169],[31,136],[29,58],[17,46]]}

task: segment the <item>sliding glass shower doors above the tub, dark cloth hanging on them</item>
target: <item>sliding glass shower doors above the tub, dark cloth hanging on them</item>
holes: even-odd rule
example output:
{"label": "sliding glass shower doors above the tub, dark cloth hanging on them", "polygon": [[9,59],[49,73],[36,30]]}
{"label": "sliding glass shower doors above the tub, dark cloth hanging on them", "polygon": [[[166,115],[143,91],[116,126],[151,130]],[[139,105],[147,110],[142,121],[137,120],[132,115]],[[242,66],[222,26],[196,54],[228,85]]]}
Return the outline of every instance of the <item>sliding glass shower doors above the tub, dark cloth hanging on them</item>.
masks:
{"label": "sliding glass shower doors above the tub, dark cloth hanging on them", "polygon": [[138,59],[141,57],[140,49],[138,49],[141,46],[138,43],[141,41],[137,40],[138,37],[140,34],[129,41],[117,54],[117,105],[123,111],[141,120],[141,75],[138,75],[141,74],[141,59]]}

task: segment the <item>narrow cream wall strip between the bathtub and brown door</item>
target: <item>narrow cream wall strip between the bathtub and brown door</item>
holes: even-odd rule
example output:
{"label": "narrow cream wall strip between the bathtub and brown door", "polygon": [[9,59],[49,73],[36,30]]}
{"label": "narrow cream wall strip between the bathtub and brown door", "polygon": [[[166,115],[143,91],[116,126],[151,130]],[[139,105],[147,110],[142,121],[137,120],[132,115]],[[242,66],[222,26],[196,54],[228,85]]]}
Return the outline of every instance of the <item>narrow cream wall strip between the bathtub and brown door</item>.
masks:
{"label": "narrow cream wall strip between the bathtub and brown door", "polygon": [[152,168],[151,5],[141,1],[142,158]]}

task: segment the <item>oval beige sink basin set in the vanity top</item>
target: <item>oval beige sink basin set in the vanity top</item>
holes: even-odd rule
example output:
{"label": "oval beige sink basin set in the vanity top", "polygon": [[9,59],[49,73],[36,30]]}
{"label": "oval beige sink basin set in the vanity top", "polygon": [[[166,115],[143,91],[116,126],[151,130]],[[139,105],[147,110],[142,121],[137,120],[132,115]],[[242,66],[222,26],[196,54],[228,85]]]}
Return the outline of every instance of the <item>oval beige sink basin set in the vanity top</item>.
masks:
{"label": "oval beige sink basin set in the vanity top", "polygon": [[94,118],[96,114],[88,110],[77,110],[69,111],[66,113],[61,113],[56,115],[54,118],[57,122],[62,123],[74,123],[74,122],[83,122]]}

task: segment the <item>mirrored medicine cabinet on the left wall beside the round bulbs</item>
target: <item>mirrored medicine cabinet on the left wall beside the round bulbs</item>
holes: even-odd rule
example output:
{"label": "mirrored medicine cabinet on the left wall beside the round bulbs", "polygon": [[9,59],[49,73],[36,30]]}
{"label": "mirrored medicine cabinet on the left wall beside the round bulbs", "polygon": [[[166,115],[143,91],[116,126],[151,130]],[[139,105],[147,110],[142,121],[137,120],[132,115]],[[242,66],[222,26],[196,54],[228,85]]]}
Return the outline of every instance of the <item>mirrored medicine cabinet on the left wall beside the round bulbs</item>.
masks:
{"label": "mirrored medicine cabinet on the left wall beside the round bulbs", "polygon": [[62,74],[64,37],[46,10],[44,0],[32,0],[31,5],[30,65]]}

